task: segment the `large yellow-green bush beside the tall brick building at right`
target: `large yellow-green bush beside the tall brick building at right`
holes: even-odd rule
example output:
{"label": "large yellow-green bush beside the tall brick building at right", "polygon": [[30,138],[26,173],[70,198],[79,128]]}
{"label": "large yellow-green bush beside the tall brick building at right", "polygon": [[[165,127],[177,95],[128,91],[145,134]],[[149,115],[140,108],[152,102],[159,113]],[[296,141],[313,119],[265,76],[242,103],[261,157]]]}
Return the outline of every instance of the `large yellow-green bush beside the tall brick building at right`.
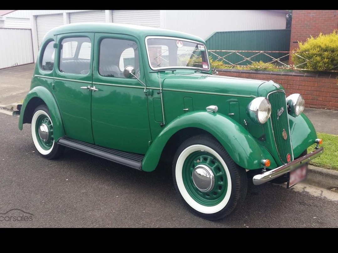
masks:
{"label": "large yellow-green bush beside the tall brick building at right", "polygon": [[[310,37],[304,43],[298,42],[299,53],[292,54],[292,61],[297,68],[313,71],[329,71],[338,69],[338,31],[330,34],[320,33],[318,37]],[[302,64],[304,63],[304,64]]]}

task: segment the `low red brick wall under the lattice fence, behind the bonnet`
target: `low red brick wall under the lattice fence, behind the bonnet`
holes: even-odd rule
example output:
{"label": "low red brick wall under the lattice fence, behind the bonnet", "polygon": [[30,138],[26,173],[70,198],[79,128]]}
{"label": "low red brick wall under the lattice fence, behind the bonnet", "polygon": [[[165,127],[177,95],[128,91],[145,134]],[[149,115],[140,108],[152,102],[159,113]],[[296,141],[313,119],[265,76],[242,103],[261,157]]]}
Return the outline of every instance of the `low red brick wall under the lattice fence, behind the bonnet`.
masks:
{"label": "low red brick wall under the lattice fence, behind the bonnet", "polygon": [[[292,74],[292,73],[291,73]],[[259,80],[272,80],[281,84],[286,95],[299,93],[305,99],[305,106],[317,109],[331,109],[338,111],[338,79],[335,77],[305,77],[286,75],[228,72],[218,70],[220,76],[242,77]]]}

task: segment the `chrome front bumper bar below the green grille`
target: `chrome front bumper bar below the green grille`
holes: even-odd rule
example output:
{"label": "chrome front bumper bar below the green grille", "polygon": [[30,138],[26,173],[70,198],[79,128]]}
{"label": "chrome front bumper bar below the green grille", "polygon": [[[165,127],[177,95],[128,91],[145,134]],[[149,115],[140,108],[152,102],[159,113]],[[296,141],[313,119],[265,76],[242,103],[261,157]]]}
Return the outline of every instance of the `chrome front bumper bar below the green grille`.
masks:
{"label": "chrome front bumper bar below the green grille", "polygon": [[268,170],[262,174],[258,174],[252,178],[252,182],[254,185],[261,185],[264,184],[276,177],[282,176],[290,171],[297,169],[299,166],[310,162],[311,160],[319,157],[324,151],[323,147],[313,150],[311,153],[306,154],[303,157],[300,157],[296,160],[293,160],[290,163],[284,164],[278,168],[273,170]]}

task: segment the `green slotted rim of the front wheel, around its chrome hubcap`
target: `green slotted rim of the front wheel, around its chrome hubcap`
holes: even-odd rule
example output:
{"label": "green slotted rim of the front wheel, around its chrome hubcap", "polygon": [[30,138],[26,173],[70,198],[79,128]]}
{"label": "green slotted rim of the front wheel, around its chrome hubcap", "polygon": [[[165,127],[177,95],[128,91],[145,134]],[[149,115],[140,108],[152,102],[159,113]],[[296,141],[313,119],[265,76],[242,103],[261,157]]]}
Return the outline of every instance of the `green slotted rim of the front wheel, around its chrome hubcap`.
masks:
{"label": "green slotted rim of the front wheel, around its chrome hubcap", "polygon": [[[214,174],[215,185],[210,192],[201,192],[195,186],[192,173],[197,165],[208,166]],[[228,187],[225,170],[216,157],[206,151],[196,151],[187,157],[182,168],[184,186],[189,195],[199,204],[214,206],[219,204],[225,197]]]}

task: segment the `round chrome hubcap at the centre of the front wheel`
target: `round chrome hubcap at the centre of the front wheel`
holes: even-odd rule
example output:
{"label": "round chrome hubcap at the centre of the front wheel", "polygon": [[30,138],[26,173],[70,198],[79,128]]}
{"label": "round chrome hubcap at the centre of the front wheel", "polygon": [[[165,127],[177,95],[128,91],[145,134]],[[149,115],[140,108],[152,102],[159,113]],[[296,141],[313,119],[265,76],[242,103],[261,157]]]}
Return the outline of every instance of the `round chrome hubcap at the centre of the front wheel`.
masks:
{"label": "round chrome hubcap at the centre of the front wheel", "polygon": [[214,173],[205,165],[198,165],[192,172],[192,180],[201,192],[210,192],[215,185]]}

